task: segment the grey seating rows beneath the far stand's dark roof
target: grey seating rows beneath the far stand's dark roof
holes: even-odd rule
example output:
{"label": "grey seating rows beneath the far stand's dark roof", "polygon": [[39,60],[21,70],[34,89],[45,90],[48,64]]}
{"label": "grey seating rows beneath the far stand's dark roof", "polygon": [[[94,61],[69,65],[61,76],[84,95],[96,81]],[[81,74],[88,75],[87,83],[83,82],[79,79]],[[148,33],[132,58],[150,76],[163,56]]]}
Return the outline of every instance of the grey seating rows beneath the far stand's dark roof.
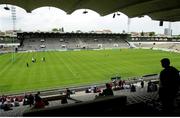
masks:
{"label": "grey seating rows beneath the far stand's dark roof", "polygon": [[19,48],[23,50],[129,48],[124,39],[118,38],[27,38]]}

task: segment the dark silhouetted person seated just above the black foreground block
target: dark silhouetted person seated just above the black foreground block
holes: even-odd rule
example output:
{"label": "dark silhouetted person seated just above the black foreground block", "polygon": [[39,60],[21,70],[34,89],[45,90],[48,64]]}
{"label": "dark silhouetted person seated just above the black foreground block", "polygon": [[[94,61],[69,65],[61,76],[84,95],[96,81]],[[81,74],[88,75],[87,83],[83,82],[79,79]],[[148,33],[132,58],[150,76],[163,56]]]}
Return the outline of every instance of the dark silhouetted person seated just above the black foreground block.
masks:
{"label": "dark silhouetted person seated just above the black foreground block", "polygon": [[109,83],[106,83],[106,89],[104,89],[103,92],[99,94],[99,96],[114,96],[112,87]]}

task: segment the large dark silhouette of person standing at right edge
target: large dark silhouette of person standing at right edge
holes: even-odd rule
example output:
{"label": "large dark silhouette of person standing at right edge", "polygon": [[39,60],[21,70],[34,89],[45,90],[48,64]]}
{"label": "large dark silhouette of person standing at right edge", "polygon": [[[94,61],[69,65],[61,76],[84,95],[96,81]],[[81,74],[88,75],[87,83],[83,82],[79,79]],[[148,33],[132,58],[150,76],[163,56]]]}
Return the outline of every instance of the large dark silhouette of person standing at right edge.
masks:
{"label": "large dark silhouette of person standing at right edge", "polygon": [[180,77],[179,71],[170,66],[168,58],[162,59],[161,65],[164,69],[160,72],[159,98],[162,102],[163,110],[167,113],[172,112],[174,109]]}

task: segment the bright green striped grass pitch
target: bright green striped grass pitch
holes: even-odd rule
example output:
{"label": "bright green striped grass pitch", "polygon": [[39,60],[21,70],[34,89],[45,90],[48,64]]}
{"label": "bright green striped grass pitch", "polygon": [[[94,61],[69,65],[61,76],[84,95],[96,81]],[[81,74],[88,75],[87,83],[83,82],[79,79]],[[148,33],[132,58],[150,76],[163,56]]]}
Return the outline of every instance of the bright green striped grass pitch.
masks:
{"label": "bright green striped grass pitch", "polygon": [[[1,94],[102,83],[115,75],[159,73],[163,57],[180,69],[180,54],[142,49],[16,53],[14,63],[11,56],[0,55]],[[31,62],[32,57],[36,63]]]}

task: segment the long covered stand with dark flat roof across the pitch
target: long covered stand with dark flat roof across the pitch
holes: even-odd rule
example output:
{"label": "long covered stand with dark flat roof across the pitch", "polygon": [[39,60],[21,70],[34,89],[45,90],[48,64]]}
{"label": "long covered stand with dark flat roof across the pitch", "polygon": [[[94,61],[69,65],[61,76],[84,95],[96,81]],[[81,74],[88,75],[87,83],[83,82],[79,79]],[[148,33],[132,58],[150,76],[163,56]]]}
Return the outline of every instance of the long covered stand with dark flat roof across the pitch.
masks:
{"label": "long covered stand with dark flat roof across the pitch", "polygon": [[18,33],[19,50],[129,48],[127,34]]}

